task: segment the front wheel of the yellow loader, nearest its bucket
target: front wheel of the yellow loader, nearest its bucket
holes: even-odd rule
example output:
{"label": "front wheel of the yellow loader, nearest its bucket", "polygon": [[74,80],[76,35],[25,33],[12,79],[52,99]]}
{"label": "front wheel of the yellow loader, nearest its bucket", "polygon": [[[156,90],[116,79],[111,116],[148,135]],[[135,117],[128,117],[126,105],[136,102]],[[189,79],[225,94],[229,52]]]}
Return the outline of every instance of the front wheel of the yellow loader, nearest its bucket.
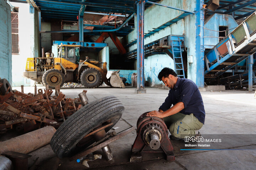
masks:
{"label": "front wheel of the yellow loader, nearest its bucket", "polygon": [[96,88],[102,84],[101,73],[95,68],[85,69],[80,76],[83,86],[87,88]]}

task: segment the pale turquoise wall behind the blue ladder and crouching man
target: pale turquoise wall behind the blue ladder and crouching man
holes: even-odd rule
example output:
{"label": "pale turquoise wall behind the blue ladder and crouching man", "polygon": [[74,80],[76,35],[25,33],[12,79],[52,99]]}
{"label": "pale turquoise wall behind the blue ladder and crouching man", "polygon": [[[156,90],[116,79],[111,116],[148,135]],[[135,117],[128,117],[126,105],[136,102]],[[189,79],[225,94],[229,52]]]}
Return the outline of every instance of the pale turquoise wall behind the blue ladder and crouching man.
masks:
{"label": "pale turquoise wall behind the blue ladder and crouching man", "polygon": [[[190,0],[162,0],[158,2],[160,4],[181,8],[188,11],[196,10],[197,1]],[[144,13],[144,33],[148,33],[153,28],[157,28],[162,24],[170,21],[171,19],[182,14],[182,11],[173,10],[170,8],[153,5],[145,10]],[[189,15],[185,19],[181,19],[170,27],[166,27],[160,30],[144,40],[144,44],[148,44],[152,41],[163,38],[167,35],[182,35],[185,34],[185,47],[188,49],[188,56],[196,56],[195,42],[196,42],[196,18],[195,15]],[[135,17],[134,23],[137,23],[137,17]],[[127,43],[137,39],[137,28],[128,34]],[[127,44],[126,43],[126,44]],[[129,47],[129,51],[137,49],[137,44]],[[183,56],[184,57],[184,56]],[[186,56],[185,56],[186,57]],[[194,62],[188,65],[188,79],[196,82],[196,58],[193,58]],[[144,60],[144,74],[145,79],[149,81],[150,86],[160,86],[162,82],[157,79],[158,73],[164,67],[170,67],[174,69],[174,62],[168,55],[152,55]],[[135,61],[136,65],[136,61]]]}

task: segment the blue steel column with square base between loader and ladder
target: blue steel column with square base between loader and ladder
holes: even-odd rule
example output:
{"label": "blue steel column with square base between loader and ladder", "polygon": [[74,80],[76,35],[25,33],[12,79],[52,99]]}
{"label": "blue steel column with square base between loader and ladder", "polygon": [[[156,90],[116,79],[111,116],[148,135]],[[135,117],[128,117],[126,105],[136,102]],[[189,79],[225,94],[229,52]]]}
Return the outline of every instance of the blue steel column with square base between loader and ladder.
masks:
{"label": "blue steel column with square base between loader and ladder", "polygon": [[135,93],[146,93],[144,88],[144,4],[137,3],[137,89]]}

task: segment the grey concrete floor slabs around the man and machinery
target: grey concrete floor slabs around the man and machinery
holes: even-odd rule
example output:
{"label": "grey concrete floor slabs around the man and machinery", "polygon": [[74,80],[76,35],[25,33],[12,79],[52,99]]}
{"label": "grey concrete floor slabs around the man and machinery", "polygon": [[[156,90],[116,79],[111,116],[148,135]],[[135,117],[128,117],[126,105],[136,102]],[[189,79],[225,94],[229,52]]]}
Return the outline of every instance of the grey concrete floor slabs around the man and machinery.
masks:
{"label": "grey concrete floor slabs around the man and machinery", "polygon": [[[18,87],[13,88],[20,90]],[[61,89],[67,98],[78,97],[84,88]],[[120,121],[114,126],[116,131],[122,131],[135,126],[138,117],[147,111],[158,110],[165,100],[168,90],[147,87],[146,94],[135,94],[133,87],[114,89],[99,87],[86,89],[89,102],[105,96],[114,95],[122,101],[125,111]],[[33,92],[33,87],[24,87],[25,93]],[[256,98],[254,93],[239,90],[201,92],[206,111],[206,120],[202,129],[202,136],[222,138],[222,145],[217,151],[181,151],[184,143],[171,141],[174,147],[175,162],[158,159],[155,155],[151,160],[142,163],[129,163],[130,149],[136,137],[136,131],[110,144],[115,162],[110,164],[104,158],[89,162],[90,169],[106,170],[198,170],[198,169],[256,169]],[[244,134],[244,135],[240,135]],[[242,138],[242,139],[241,139]],[[215,145],[216,143],[212,143]],[[102,153],[101,150],[95,153]],[[88,169],[76,161],[69,162],[67,158],[58,159],[49,145],[29,153],[31,166],[37,161],[37,169]]]}

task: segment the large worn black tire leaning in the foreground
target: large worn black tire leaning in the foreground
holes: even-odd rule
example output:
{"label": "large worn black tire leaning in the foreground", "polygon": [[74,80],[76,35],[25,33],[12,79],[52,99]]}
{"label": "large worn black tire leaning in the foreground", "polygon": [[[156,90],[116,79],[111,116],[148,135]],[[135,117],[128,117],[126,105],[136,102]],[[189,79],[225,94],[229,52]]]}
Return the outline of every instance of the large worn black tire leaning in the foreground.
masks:
{"label": "large worn black tire leaning in the foreground", "polygon": [[89,146],[78,146],[85,135],[107,120],[108,123],[113,123],[105,129],[106,132],[109,131],[121,118],[123,111],[123,104],[115,96],[95,100],[79,109],[60,125],[50,141],[50,146],[59,158],[81,152]]}

